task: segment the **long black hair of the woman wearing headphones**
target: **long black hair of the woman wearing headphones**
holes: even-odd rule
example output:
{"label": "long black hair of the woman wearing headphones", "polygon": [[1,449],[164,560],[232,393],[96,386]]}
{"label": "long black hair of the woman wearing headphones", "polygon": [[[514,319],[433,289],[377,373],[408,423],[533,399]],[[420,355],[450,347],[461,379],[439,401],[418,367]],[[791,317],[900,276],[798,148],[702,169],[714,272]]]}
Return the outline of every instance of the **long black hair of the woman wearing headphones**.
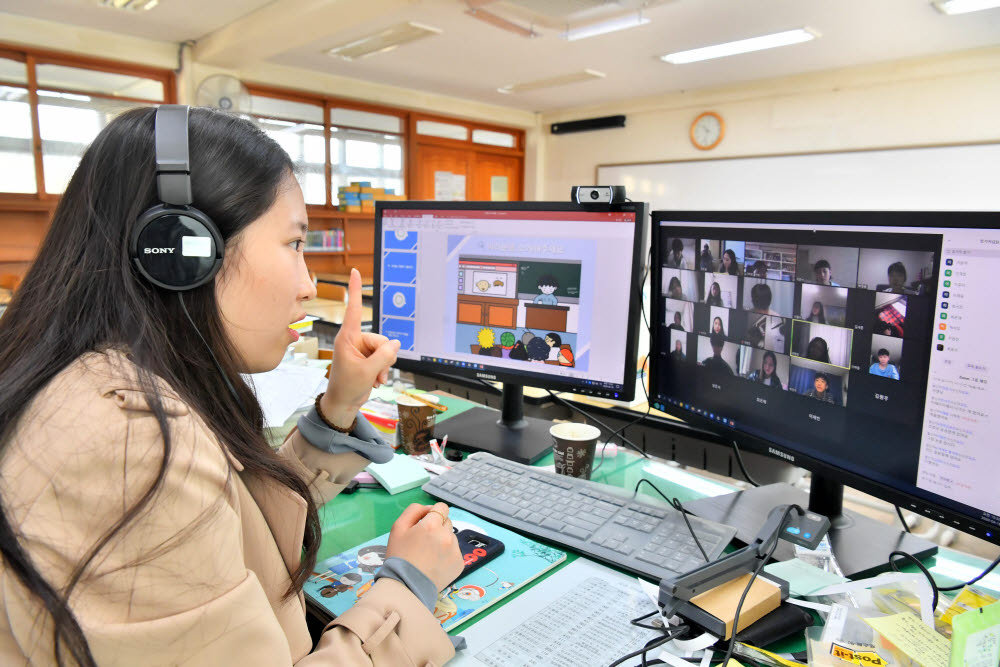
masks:
{"label": "long black hair of the woman wearing headphones", "polygon": [[[41,576],[0,504],[4,564],[52,616],[60,665],[63,645],[77,664],[95,665],[68,600],[91,561],[162,486],[172,444],[158,379],[205,421],[247,474],[273,479],[305,499],[305,549],[287,597],[301,590],[319,547],[316,506],[305,482],[264,438],[263,413],[240,378],[244,365],[224,332],[214,281],[186,293],[184,301],[225,377],[176,296],[143,281],[129,260],[135,221],[158,201],[154,113],[153,108],[122,113],[94,139],[66,187],[34,264],[0,319],[0,455],[50,380],[81,355],[112,348],[123,350],[137,367],[163,436],[163,458],[153,483],[96,539],[62,590]],[[218,226],[229,261],[238,255],[232,251],[240,232],[272,206],[292,177],[293,165],[276,142],[235,116],[192,109],[189,128],[194,206]]]}

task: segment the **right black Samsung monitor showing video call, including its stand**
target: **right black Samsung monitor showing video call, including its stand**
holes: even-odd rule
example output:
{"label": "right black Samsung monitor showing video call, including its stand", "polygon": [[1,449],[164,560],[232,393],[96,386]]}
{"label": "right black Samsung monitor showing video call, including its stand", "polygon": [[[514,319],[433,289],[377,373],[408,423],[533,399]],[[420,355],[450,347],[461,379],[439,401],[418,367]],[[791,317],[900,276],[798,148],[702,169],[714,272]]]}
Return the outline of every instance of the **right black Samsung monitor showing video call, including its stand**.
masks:
{"label": "right black Samsung monitor showing video call, including its stand", "polygon": [[[849,575],[936,547],[842,512],[845,484],[1000,544],[998,222],[655,211],[651,402],[811,470]],[[782,486],[690,508],[742,538]]]}

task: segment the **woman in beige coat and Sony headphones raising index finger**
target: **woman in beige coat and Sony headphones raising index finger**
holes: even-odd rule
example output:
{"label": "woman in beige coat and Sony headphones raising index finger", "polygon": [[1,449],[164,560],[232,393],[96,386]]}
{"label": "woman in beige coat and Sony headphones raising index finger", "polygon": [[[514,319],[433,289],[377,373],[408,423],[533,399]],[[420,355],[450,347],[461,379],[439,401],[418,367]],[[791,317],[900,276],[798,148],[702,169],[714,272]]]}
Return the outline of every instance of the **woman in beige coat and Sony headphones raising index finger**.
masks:
{"label": "woman in beige coat and Sony headphones raising index finger", "polygon": [[[188,141],[190,137],[190,141]],[[243,374],[315,297],[287,154],[164,105],[87,149],[0,319],[0,664],[443,664],[463,561],[443,503],[393,524],[374,586],[315,649],[317,506],[392,449],[359,413],[398,341],[352,271],[329,386],[278,451]]]}

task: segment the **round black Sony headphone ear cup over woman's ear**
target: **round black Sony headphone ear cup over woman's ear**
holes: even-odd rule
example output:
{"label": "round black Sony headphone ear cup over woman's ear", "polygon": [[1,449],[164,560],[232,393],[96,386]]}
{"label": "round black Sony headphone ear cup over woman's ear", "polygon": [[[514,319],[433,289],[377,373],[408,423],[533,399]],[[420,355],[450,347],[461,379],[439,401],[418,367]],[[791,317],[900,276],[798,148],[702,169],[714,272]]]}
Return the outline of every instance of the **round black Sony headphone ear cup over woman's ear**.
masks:
{"label": "round black Sony headphone ear cup over woman's ear", "polygon": [[212,220],[191,206],[161,204],[136,221],[131,255],[139,273],[163,289],[204,285],[222,267],[223,242]]}

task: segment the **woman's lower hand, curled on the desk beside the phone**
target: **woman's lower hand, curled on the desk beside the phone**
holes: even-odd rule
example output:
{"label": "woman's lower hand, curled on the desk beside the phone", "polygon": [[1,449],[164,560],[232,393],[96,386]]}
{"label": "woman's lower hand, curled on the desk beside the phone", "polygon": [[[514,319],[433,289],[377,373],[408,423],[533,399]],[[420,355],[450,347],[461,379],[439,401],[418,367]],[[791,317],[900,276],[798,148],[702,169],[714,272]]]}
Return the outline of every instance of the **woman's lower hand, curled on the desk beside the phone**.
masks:
{"label": "woman's lower hand, curled on the desk beside the phone", "polygon": [[439,591],[455,581],[465,567],[444,503],[414,503],[403,510],[389,531],[385,556],[408,561],[434,582]]}

